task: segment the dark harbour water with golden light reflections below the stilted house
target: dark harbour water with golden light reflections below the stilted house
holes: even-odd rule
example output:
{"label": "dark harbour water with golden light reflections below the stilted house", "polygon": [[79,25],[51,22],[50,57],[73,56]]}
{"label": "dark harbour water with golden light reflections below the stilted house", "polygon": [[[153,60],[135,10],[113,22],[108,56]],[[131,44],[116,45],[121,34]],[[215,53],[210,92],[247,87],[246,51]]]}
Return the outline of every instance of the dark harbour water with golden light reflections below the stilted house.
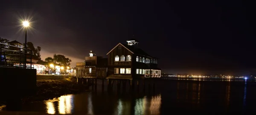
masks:
{"label": "dark harbour water with golden light reflections below the stilted house", "polygon": [[141,84],[139,88],[135,86],[134,92],[126,89],[120,93],[116,84],[112,93],[107,92],[106,86],[102,90],[100,82],[96,92],[26,104],[22,110],[83,115],[205,115],[254,113],[255,109],[254,81],[157,80],[154,92],[148,90],[147,82],[145,92]]}

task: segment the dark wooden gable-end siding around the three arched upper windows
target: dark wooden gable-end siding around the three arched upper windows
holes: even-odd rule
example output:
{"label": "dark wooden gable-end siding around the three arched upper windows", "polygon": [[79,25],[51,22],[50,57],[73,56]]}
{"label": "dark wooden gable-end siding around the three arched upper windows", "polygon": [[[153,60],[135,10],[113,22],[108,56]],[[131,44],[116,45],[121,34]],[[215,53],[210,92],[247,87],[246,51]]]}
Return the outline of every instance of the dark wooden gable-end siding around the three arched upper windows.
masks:
{"label": "dark wooden gable-end siding around the three arched upper windows", "polygon": [[[119,46],[121,46],[121,49],[119,49]],[[115,65],[115,57],[116,57],[116,55],[119,56],[119,59],[120,59],[121,55],[124,55],[125,59],[126,59],[127,55],[131,55],[131,57],[132,57],[133,54],[129,50],[127,50],[122,45],[119,45],[119,46],[117,46],[115,49],[113,49],[108,54],[108,65]],[[133,60],[133,58],[131,60]]]}

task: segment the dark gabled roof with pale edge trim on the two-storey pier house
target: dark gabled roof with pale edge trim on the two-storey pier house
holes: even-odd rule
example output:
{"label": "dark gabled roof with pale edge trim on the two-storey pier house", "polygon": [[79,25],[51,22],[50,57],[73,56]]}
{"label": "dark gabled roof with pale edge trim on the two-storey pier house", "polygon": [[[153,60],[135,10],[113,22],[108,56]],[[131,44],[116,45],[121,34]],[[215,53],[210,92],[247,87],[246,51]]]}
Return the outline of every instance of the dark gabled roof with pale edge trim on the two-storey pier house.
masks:
{"label": "dark gabled roof with pale edge trim on the two-storey pier house", "polygon": [[[119,45],[122,45],[125,49],[128,49],[128,51],[130,51],[130,52],[133,53],[133,54],[145,55],[145,56],[154,58],[154,57],[148,55],[148,54],[147,54],[146,52],[144,52],[142,49],[136,48],[136,47],[134,47],[134,46],[130,46],[130,45],[127,45],[127,44],[124,44],[124,43],[118,43],[113,49],[115,49],[115,48],[116,48],[117,46],[119,46]],[[111,51],[112,51],[113,49],[111,49]],[[107,53],[107,55],[108,55],[111,51],[109,51],[109,52]],[[157,58],[156,58],[156,59],[157,59]]]}

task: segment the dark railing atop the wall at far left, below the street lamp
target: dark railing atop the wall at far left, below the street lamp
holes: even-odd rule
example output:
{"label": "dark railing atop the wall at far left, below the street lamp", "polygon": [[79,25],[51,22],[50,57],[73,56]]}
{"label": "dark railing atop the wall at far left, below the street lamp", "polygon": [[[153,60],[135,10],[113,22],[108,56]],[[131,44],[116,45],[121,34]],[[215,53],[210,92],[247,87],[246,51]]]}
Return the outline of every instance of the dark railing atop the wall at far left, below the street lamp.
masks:
{"label": "dark railing atop the wall at far left, below the street lamp", "polygon": [[34,68],[32,50],[0,43],[0,67]]}

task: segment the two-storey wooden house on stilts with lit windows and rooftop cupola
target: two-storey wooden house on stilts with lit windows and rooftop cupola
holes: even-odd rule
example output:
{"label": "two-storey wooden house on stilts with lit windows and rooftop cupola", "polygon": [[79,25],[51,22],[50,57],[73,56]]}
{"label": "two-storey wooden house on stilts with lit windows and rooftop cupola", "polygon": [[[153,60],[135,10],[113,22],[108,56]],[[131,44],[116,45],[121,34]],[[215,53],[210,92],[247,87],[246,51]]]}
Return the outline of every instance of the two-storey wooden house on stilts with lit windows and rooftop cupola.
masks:
{"label": "two-storey wooden house on stilts with lit windows and rooftop cupola", "polygon": [[127,40],[127,44],[118,43],[108,55],[108,78],[140,79],[160,78],[161,69],[157,68],[157,59],[138,48],[139,41]]}

